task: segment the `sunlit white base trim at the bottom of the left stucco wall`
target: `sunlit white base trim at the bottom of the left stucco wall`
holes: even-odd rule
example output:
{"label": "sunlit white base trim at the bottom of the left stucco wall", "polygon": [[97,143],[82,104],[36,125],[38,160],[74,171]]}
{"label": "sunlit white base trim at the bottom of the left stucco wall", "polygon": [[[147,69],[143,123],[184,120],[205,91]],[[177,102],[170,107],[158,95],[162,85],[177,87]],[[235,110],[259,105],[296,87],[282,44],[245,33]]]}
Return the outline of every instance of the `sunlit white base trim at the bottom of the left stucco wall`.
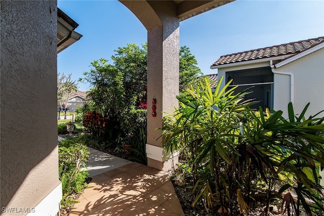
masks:
{"label": "sunlit white base trim at the bottom of the left stucco wall", "polygon": [[31,209],[29,216],[55,216],[60,211],[62,199],[62,183],[51,191],[36,207]]}

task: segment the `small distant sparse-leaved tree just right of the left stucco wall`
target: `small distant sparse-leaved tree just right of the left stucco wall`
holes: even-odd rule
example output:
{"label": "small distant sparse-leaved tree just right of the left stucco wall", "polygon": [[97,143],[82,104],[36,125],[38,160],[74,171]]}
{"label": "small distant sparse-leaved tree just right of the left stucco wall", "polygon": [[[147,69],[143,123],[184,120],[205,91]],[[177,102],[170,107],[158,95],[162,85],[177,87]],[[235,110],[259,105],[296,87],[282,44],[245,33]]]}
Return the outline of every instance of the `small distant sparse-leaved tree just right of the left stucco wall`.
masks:
{"label": "small distant sparse-leaved tree just right of the left stucco wall", "polygon": [[63,103],[67,104],[70,94],[77,91],[77,85],[75,80],[72,81],[71,75],[57,72],[57,101],[61,108]]}

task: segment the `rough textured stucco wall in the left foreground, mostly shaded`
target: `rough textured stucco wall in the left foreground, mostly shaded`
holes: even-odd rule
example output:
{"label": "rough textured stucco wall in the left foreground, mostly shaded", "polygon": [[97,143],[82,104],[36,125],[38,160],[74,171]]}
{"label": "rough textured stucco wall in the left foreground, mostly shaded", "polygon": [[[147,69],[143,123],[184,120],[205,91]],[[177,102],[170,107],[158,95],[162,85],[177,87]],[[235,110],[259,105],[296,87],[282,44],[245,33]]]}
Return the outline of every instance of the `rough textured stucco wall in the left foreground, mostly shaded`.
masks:
{"label": "rough textured stucco wall in the left foreground, mostly shaded", "polygon": [[35,207],[60,184],[56,20],[56,1],[1,1],[0,207]]}

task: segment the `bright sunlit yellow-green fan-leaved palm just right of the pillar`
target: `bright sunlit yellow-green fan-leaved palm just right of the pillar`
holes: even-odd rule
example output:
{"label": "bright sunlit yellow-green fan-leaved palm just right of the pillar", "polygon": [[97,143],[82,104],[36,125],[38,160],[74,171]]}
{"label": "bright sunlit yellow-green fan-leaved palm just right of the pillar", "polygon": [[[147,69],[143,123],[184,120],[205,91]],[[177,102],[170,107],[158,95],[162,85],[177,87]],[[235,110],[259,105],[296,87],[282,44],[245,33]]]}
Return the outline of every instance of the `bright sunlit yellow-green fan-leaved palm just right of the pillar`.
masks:
{"label": "bright sunlit yellow-green fan-leaved palm just right of the pillar", "polygon": [[[180,108],[165,118],[162,129],[165,147],[170,151],[184,151],[188,155],[186,159],[191,166],[194,188],[198,189],[196,201],[203,196],[212,197],[217,191],[215,199],[225,209],[224,195],[228,182],[222,171],[231,164],[232,153],[239,155],[235,150],[237,142],[234,141],[240,136],[237,125],[242,119],[241,112],[256,102],[244,101],[248,92],[234,95],[235,87],[225,92],[230,82],[221,89],[221,81],[222,77],[214,93],[209,80],[205,79],[205,83],[200,82],[195,90],[191,87],[185,94],[177,96]],[[211,182],[207,183],[210,178],[196,179],[197,170],[203,167],[208,167],[209,175],[214,179],[213,192],[210,190]],[[212,200],[205,200],[208,200],[208,206],[213,206]]]}

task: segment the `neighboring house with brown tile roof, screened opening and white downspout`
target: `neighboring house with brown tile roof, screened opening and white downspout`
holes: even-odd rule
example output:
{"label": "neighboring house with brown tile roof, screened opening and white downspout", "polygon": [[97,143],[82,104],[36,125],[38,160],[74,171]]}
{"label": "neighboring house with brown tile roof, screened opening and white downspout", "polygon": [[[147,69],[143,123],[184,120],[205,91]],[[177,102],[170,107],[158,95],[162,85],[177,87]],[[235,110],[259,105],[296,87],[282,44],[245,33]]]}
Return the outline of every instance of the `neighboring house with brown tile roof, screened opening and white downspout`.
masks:
{"label": "neighboring house with brown tile roof, screened opening and white downspout", "polygon": [[[324,36],[221,56],[211,69],[233,80],[236,91],[253,87],[247,99],[263,108],[284,111],[292,102],[295,114],[310,102],[306,116],[324,110]],[[323,116],[322,114],[321,116]]]}

